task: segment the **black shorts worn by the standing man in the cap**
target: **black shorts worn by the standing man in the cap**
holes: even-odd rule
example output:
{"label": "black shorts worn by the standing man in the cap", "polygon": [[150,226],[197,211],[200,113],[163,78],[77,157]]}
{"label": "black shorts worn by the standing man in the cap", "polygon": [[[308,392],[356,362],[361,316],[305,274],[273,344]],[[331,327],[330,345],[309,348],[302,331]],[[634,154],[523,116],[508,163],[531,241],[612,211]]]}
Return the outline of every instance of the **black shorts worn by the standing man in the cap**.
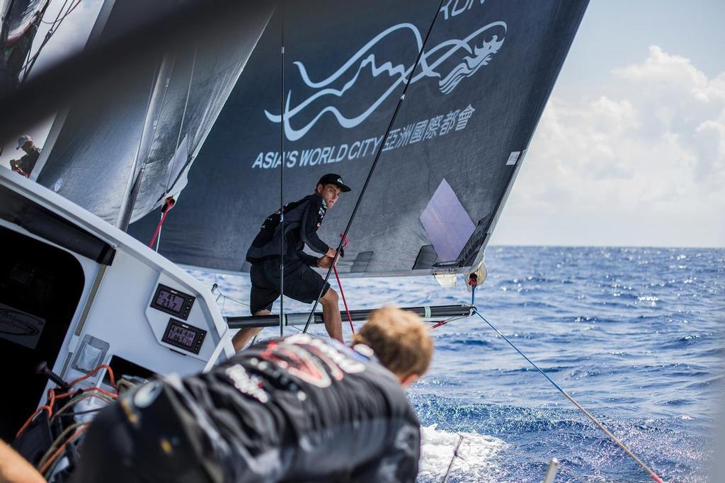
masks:
{"label": "black shorts worn by the standing man in the cap", "polygon": [[[254,263],[249,270],[249,278],[252,280],[249,311],[254,315],[260,310],[272,310],[272,304],[279,297],[279,260]],[[317,300],[320,292],[324,297],[329,288],[330,284],[302,261],[285,262],[284,294],[287,297],[310,304]]]}

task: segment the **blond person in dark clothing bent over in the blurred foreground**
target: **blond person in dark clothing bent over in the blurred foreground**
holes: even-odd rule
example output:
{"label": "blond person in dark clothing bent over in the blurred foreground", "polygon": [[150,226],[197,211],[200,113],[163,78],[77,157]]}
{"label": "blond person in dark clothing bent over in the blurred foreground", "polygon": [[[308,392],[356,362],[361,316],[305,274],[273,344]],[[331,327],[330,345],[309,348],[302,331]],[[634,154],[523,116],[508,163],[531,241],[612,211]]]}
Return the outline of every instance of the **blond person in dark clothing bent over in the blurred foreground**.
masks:
{"label": "blond person in dark clothing bent over in the blurred foreground", "polygon": [[166,376],[99,413],[74,483],[413,483],[418,418],[404,388],[428,370],[420,318],[376,310],[352,347],[308,334]]}

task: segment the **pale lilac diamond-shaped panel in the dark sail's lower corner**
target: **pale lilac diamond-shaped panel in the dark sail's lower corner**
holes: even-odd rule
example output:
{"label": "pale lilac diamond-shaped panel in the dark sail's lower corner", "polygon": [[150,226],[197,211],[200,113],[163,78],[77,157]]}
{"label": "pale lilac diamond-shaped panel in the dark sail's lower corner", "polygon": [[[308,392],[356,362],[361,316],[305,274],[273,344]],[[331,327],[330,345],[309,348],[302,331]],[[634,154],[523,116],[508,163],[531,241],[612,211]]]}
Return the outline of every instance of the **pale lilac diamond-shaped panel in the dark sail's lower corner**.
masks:
{"label": "pale lilac diamond-shaped panel in the dark sail's lower corner", "polygon": [[476,226],[460,200],[444,179],[421,214],[423,228],[439,259],[456,260]]}

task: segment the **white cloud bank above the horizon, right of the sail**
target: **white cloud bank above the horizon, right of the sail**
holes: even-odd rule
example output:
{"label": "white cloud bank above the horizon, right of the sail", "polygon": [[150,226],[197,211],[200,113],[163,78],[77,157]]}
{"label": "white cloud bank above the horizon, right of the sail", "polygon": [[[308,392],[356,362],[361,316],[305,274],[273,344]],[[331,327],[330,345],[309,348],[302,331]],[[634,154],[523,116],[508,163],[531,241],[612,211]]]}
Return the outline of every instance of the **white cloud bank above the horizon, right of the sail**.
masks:
{"label": "white cloud bank above the horizon, right of the sail", "polygon": [[605,92],[552,96],[529,151],[494,242],[725,246],[725,72],[651,46]]}

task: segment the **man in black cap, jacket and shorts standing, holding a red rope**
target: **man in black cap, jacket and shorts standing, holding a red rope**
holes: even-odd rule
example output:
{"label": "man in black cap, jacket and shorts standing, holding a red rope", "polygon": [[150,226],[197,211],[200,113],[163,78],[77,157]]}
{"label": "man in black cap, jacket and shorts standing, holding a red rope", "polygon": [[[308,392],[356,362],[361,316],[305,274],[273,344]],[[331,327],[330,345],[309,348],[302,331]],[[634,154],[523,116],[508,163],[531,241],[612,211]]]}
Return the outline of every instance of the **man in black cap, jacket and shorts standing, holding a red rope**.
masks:
{"label": "man in black cap, jacket and shorts standing, holding a red rope", "polygon": [[[327,210],[334,207],[341,193],[347,191],[350,188],[339,175],[328,173],[320,178],[314,193],[283,207],[284,294],[299,302],[312,303],[322,292],[320,303],[325,329],[330,337],[340,342],[342,319],[337,305],[339,297],[312,267],[330,268],[336,262],[337,250],[320,240],[317,231]],[[249,270],[252,280],[249,310],[252,315],[269,315],[272,304],[280,295],[281,232],[278,210],[267,217],[247,251],[247,261],[252,263]],[[305,245],[322,256],[308,255],[303,251]],[[241,350],[260,330],[258,327],[241,329],[232,339],[234,349]]]}

